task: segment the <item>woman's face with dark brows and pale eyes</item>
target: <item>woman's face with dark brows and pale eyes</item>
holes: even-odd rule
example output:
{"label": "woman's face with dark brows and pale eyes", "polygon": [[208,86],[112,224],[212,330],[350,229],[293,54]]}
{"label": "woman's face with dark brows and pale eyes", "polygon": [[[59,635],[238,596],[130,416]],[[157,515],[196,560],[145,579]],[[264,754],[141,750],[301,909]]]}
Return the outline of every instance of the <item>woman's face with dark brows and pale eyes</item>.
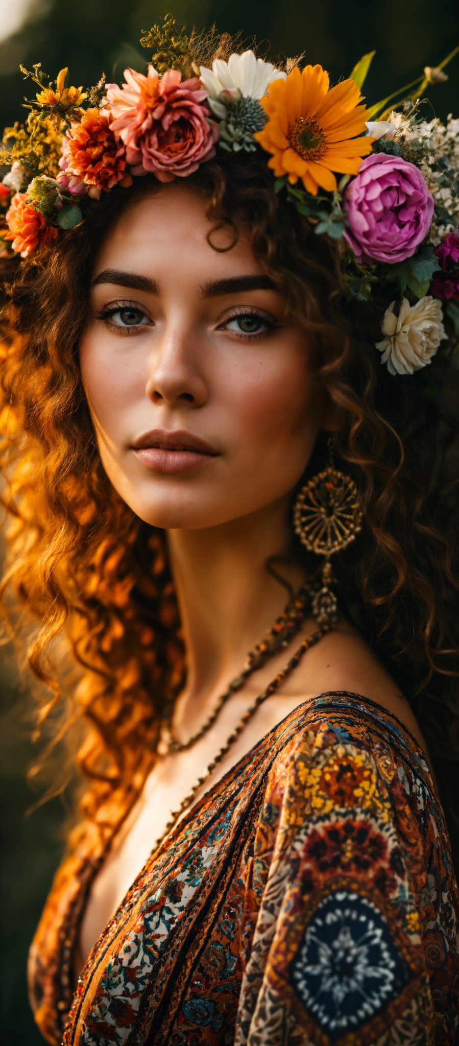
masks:
{"label": "woman's face with dark brows and pale eyes", "polygon": [[[133,202],[96,256],[79,343],[104,469],[136,516],[167,529],[286,505],[323,424],[304,332],[244,235],[210,247],[205,210],[176,184]],[[163,453],[159,471],[133,449],[152,429],[185,430],[215,454],[173,471],[179,458]]]}

